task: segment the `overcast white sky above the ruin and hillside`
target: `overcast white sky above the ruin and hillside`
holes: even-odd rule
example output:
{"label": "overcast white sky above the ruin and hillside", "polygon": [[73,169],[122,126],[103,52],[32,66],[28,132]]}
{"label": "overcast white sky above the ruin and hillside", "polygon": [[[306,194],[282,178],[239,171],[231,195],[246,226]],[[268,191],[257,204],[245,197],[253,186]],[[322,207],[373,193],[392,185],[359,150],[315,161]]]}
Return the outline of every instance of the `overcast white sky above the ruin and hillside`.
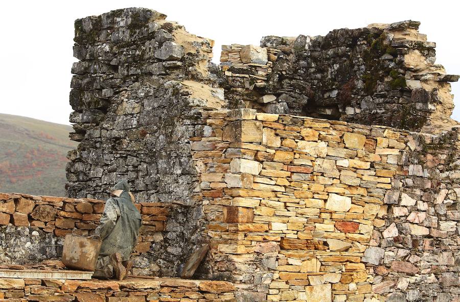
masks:
{"label": "overcast white sky above the ruin and hillside", "polygon": [[[0,113],[68,124],[74,20],[126,7],[168,15],[198,36],[222,44],[259,44],[267,35],[325,35],[369,23],[418,20],[436,42],[436,63],[460,74],[458,4],[447,1],[6,1],[0,18]],[[460,84],[452,83],[460,120]]]}

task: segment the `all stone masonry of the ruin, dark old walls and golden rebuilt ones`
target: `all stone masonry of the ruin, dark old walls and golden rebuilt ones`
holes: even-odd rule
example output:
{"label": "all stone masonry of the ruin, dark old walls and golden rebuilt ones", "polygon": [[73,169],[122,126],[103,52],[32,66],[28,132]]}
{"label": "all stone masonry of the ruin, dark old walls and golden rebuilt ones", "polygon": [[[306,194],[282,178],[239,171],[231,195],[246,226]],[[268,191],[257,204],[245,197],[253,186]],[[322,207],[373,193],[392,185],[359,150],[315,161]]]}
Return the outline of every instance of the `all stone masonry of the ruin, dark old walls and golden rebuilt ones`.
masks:
{"label": "all stone masonry of the ruin, dark old walls and golden rebuilt ones", "polygon": [[[126,178],[135,271],[162,279],[0,279],[0,299],[460,301],[458,76],[419,25],[264,37],[216,66],[212,40],[155,11],[77,20],[68,197],[0,194],[1,257],[58,257]],[[201,281],[163,278],[205,243]]]}

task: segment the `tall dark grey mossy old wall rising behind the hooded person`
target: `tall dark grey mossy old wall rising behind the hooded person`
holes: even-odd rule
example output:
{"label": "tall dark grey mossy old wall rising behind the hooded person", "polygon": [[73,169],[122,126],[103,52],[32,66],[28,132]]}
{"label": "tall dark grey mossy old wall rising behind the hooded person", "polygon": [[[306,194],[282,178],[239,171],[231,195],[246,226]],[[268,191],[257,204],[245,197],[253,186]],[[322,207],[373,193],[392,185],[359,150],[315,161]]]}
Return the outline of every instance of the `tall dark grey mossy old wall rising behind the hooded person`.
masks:
{"label": "tall dark grey mossy old wall rising behind the hooded person", "polygon": [[224,101],[210,86],[213,41],[165,17],[131,8],[75,21],[70,120],[80,144],[68,154],[66,192],[105,200],[127,179],[141,203],[186,206],[167,225],[170,248],[156,250],[162,261],[144,261],[173,276],[205,240],[190,140],[210,131],[199,110]]}

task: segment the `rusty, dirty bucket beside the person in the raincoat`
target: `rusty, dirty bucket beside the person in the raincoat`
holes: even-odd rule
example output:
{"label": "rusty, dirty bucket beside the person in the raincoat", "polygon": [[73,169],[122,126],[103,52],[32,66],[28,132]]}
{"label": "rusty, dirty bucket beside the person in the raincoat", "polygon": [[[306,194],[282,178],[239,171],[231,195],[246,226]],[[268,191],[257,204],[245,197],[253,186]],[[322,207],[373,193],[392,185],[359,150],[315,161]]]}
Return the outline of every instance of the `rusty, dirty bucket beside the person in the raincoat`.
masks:
{"label": "rusty, dirty bucket beside the person in the raincoat", "polygon": [[68,268],[94,271],[102,241],[75,234],[65,235],[62,262]]}

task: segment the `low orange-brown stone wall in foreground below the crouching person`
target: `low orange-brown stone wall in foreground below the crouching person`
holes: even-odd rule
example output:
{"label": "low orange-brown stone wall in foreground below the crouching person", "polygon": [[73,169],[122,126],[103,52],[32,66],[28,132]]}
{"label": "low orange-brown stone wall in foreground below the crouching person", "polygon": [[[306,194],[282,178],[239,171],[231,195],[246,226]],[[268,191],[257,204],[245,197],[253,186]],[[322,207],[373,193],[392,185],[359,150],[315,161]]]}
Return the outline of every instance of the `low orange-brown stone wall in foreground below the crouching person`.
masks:
{"label": "low orange-brown stone wall in foreground below the crouching person", "polygon": [[235,286],[222,281],[128,279],[81,281],[0,279],[0,302],[235,302]]}

